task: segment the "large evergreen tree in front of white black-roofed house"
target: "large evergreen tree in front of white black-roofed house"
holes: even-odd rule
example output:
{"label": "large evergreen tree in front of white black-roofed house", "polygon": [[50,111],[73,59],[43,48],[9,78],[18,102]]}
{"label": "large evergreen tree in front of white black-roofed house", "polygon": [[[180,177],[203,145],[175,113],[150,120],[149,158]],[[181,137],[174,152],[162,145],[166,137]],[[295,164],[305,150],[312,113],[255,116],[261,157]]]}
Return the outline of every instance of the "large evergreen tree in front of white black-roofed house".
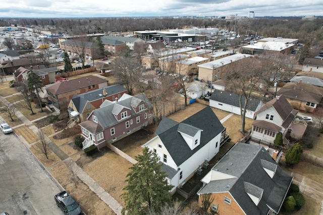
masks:
{"label": "large evergreen tree in front of white black-roofed house", "polygon": [[128,184],[123,188],[122,197],[128,215],[139,214],[140,210],[154,208],[156,211],[166,203],[172,203],[169,190],[172,185],[165,179],[167,174],[161,171],[159,158],[148,148],[142,150],[142,155],[136,156],[138,163],[130,167],[127,174]]}

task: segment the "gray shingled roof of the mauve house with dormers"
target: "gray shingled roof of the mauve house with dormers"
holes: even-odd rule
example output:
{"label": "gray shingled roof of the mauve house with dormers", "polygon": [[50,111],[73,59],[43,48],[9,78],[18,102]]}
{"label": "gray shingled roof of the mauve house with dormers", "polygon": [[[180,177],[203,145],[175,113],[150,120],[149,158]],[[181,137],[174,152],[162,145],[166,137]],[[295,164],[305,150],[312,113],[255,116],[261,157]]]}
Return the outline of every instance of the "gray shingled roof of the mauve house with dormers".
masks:
{"label": "gray shingled roof of the mauve house with dormers", "polygon": [[[93,110],[93,112],[90,114],[94,114],[102,126],[103,129],[110,127],[111,125],[119,123],[119,121],[116,119],[115,115],[113,114],[114,111],[118,112],[120,111],[120,108],[127,108],[131,111],[131,116],[135,116],[137,113],[133,110],[131,107],[131,100],[133,98],[141,99],[143,102],[145,102],[148,106],[148,109],[151,108],[151,104],[149,103],[149,100],[145,94],[138,94],[136,96],[131,96],[130,98],[119,100],[116,103],[107,104],[106,106],[103,106],[99,109]],[[80,123],[81,126],[83,126],[83,122]]]}

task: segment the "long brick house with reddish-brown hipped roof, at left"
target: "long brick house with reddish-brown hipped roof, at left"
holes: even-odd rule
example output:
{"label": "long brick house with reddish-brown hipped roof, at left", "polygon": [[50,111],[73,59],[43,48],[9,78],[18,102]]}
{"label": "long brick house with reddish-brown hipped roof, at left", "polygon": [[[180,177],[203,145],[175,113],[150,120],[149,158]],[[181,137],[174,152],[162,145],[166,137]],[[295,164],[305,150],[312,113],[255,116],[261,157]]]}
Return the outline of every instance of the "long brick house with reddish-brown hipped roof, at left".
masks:
{"label": "long brick house with reddish-brown hipped roof, at left", "polygon": [[86,93],[107,86],[107,80],[97,76],[87,76],[52,84],[45,88],[47,99],[53,106],[62,109],[68,106],[73,95]]}

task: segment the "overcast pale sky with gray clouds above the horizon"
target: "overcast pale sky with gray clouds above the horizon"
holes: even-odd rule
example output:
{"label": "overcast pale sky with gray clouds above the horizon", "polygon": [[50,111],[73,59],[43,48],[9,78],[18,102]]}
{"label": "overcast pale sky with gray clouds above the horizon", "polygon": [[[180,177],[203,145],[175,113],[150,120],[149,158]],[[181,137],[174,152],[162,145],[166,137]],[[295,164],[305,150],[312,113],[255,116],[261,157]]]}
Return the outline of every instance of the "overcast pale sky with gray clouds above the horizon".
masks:
{"label": "overcast pale sky with gray clouds above the horizon", "polygon": [[[2,3],[2,4],[1,4]],[[0,0],[0,17],[323,16],[323,0]]]}

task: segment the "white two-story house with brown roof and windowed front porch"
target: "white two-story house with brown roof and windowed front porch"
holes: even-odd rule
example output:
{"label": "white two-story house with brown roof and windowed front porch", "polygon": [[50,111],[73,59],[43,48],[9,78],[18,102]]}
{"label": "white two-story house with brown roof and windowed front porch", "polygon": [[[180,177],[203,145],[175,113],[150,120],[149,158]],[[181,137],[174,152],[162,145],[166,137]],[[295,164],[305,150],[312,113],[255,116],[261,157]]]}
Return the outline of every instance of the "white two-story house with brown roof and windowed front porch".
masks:
{"label": "white two-story house with brown roof and windowed front porch", "polygon": [[257,112],[256,120],[252,123],[251,138],[272,144],[279,132],[286,135],[297,113],[298,110],[293,109],[285,96],[276,97]]}

